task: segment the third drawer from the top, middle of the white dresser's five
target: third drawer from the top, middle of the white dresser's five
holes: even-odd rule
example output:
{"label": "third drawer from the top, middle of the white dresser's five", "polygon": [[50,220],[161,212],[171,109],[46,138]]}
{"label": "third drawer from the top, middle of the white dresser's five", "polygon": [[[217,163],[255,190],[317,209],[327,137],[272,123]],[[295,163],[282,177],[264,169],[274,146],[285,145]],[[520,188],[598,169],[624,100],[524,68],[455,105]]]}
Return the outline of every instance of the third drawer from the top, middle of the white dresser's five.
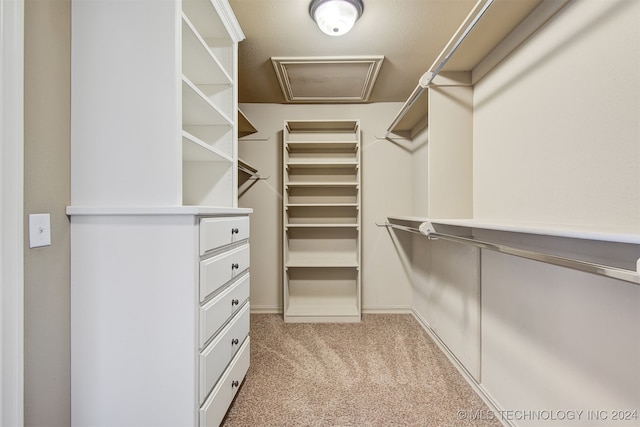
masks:
{"label": "third drawer from the top, middle of the white dresser's five", "polygon": [[200,348],[249,299],[249,273],[200,307]]}

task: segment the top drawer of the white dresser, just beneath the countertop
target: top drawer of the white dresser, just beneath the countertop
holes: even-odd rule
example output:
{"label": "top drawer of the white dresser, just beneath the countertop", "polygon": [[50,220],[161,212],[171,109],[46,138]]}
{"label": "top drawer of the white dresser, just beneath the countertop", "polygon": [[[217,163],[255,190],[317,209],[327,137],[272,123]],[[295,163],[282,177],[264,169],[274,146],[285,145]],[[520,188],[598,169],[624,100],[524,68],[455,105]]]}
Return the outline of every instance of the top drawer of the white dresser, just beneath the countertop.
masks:
{"label": "top drawer of the white dresser, just beneath the countertop", "polygon": [[200,220],[200,255],[249,238],[249,217],[203,218]]}

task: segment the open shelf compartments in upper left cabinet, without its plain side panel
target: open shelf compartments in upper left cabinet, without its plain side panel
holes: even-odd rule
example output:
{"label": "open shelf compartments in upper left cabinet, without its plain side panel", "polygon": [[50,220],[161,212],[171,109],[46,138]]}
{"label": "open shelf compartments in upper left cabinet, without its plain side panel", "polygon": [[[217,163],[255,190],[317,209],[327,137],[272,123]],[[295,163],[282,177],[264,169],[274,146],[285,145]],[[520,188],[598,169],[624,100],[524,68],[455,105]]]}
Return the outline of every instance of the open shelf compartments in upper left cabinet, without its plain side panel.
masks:
{"label": "open shelf compartments in upper left cabinet, without its plain side panel", "polygon": [[188,135],[183,137],[184,205],[237,205],[238,40],[221,18],[222,3],[182,2],[182,131]]}

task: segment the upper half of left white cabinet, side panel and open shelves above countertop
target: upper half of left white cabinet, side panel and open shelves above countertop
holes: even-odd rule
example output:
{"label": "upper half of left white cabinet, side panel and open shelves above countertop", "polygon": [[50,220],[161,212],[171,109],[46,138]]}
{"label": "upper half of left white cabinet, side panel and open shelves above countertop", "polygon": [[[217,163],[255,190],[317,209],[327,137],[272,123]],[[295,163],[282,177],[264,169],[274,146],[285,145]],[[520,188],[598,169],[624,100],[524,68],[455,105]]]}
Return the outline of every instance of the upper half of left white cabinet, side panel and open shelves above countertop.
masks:
{"label": "upper half of left white cabinet, side panel and open shelves above countertop", "polygon": [[237,206],[244,35],[226,0],[159,3],[74,2],[74,206]]}

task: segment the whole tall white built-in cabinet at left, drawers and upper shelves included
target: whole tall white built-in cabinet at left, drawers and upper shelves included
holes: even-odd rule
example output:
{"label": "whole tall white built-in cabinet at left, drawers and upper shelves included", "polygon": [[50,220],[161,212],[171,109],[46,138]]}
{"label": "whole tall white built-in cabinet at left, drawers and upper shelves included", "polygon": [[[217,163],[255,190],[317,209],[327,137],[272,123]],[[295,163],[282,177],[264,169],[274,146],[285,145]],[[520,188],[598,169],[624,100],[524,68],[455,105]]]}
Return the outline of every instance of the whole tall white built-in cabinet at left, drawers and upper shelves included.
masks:
{"label": "whole tall white built-in cabinet at left, drawers and upper shelves included", "polygon": [[73,0],[73,425],[217,426],[249,367],[227,0]]}

